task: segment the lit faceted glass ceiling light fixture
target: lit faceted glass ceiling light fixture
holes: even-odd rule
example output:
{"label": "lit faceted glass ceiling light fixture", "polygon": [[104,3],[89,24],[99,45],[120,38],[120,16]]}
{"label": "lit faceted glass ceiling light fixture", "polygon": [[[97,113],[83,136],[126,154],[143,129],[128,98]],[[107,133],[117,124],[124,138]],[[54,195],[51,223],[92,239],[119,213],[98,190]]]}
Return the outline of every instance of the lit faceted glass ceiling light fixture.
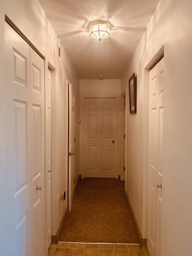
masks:
{"label": "lit faceted glass ceiling light fixture", "polygon": [[110,35],[112,26],[106,20],[96,20],[94,22],[90,22],[89,29],[90,36],[100,41],[101,39],[107,38]]}

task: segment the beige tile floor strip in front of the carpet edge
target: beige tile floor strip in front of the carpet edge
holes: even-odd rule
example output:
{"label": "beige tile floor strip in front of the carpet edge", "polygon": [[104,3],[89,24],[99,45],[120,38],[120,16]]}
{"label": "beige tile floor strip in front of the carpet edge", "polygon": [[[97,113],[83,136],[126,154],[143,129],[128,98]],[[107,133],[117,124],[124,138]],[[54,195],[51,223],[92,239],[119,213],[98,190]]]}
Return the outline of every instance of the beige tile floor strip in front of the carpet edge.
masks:
{"label": "beige tile floor strip in front of the carpet edge", "polygon": [[51,244],[48,256],[149,256],[139,244]]}

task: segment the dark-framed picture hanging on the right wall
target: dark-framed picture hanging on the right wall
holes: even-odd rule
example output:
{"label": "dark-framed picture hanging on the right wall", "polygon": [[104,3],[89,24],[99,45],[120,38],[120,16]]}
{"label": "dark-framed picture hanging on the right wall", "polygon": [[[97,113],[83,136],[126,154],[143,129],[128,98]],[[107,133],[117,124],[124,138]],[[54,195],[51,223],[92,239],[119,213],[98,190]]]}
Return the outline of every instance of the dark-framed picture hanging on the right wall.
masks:
{"label": "dark-framed picture hanging on the right wall", "polygon": [[135,73],[132,74],[132,76],[129,79],[129,111],[130,114],[136,113],[136,76]]}

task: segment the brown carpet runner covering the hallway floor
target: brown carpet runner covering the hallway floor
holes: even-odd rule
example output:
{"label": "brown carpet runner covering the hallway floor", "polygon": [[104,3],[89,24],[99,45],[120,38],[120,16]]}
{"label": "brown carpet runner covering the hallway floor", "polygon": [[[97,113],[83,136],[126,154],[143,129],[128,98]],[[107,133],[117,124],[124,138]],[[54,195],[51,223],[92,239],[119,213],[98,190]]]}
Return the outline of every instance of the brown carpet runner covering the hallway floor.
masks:
{"label": "brown carpet runner covering the hallway floor", "polygon": [[59,241],[140,243],[124,186],[116,179],[80,180]]}

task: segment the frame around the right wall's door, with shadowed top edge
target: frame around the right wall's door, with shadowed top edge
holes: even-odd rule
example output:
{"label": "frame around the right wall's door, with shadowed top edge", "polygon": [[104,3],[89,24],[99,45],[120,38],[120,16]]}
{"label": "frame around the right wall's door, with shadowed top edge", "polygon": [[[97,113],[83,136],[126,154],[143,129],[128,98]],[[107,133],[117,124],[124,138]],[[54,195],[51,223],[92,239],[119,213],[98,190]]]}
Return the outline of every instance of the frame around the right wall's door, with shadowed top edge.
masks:
{"label": "frame around the right wall's door, with shadowed top edge", "polygon": [[147,195],[148,195],[148,90],[149,90],[149,72],[164,57],[164,45],[148,61],[144,68],[143,90],[143,212],[142,212],[142,243],[147,245]]}

